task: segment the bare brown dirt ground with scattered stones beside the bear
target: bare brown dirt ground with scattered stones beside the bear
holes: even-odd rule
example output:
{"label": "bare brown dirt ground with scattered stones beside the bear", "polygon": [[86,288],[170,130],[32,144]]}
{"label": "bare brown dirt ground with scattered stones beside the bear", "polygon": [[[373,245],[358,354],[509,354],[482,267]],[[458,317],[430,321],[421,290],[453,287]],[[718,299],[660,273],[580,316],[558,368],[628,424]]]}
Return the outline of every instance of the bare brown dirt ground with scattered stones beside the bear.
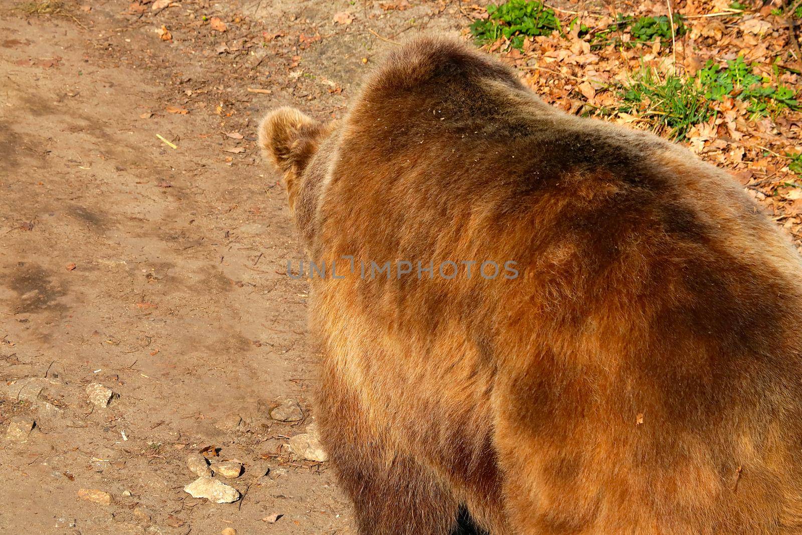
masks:
{"label": "bare brown dirt ground with scattered stones beside the bear", "polygon": [[[387,41],[467,18],[167,3],[0,1],[0,532],[354,533],[327,464],[287,451],[316,358],[255,129],[282,104],[339,116]],[[301,421],[270,417],[284,399]],[[244,464],[241,500],[184,492],[205,448]]]}

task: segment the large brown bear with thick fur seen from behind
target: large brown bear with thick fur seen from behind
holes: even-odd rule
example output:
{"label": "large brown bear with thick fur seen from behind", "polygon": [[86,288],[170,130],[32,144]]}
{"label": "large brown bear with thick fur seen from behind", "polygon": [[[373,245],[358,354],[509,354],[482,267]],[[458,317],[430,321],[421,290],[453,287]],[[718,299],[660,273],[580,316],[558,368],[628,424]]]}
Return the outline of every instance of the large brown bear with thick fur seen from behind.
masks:
{"label": "large brown bear with thick fur seen from behind", "polygon": [[311,326],[360,533],[459,505],[494,535],[802,533],[800,259],[725,172],[448,39],[392,51],[330,132],[303,117],[261,139],[344,276],[312,278]]}

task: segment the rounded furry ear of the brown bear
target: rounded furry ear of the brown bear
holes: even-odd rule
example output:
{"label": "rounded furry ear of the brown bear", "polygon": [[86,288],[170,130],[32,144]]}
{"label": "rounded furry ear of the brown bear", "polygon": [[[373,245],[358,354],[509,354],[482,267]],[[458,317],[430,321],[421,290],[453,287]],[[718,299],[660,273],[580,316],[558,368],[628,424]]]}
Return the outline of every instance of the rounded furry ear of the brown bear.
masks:
{"label": "rounded furry ear of the brown bear", "polygon": [[270,111],[259,125],[259,145],[281,172],[299,172],[310,156],[306,138],[316,137],[318,121],[294,107]]}

